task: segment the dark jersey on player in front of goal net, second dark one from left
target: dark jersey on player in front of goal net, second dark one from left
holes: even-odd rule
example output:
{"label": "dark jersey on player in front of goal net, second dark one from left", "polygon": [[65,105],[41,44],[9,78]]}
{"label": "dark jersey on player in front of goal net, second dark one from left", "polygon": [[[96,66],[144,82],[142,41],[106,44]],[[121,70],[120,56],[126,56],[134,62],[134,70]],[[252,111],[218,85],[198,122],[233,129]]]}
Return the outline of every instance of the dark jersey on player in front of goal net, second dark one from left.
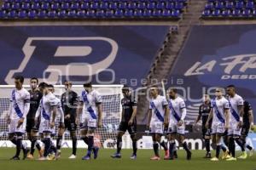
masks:
{"label": "dark jersey on player in front of goal net, second dark one from left", "polygon": [[70,114],[71,119],[74,119],[76,116],[76,109],[78,106],[79,97],[78,94],[74,91],[67,91],[64,94],[61,94],[61,105],[64,112],[64,116]]}

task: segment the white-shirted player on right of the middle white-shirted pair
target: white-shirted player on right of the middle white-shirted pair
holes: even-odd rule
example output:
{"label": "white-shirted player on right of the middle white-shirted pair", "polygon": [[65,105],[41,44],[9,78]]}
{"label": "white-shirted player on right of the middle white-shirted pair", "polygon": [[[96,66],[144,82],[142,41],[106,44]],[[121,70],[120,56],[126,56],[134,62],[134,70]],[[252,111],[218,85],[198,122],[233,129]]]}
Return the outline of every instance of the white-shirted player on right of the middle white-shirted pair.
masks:
{"label": "white-shirted player on right of the middle white-shirted pair", "polygon": [[168,127],[168,139],[170,141],[169,146],[169,160],[174,159],[173,149],[175,146],[175,139],[179,143],[183,144],[183,149],[187,152],[187,160],[191,159],[191,151],[189,150],[188,144],[184,141],[185,137],[185,123],[184,119],[187,114],[186,105],[184,100],[177,96],[176,88],[169,88],[169,109],[170,109],[170,118],[169,118],[169,127]]}

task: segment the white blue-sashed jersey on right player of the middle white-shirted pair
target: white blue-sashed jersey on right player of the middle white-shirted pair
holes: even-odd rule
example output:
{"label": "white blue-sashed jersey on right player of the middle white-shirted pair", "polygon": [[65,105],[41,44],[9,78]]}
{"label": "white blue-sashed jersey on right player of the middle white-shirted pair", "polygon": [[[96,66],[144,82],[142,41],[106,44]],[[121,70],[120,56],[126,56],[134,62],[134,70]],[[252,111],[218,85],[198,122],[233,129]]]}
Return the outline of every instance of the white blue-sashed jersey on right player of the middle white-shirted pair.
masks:
{"label": "white blue-sashed jersey on right player of the middle white-shirted pair", "polygon": [[177,123],[182,117],[182,110],[186,109],[184,100],[181,97],[176,99],[169,99],[168,105],[170,109],[169,121],[170,123]]}

